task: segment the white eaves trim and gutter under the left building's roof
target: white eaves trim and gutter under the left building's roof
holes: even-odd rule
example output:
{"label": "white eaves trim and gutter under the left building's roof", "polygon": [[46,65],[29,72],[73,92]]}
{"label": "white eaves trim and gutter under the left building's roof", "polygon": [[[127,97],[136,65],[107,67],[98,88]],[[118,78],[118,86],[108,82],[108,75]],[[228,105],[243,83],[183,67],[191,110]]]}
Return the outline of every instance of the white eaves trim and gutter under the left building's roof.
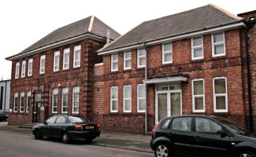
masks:
{"label": "white eaves trim and gutter under the left building's roof", "polygon": [[85,38],[92,38],[92,39],[99,40],[99,41],[104,41],[105,40],[103,37],[98,37],[97,35],[91,35],[91,34],[79,35],[79,36],[74,37],[74,38],[69,38],[69,39],[66,39],[66,40],[61,41],[61,42],[56,42],[54,44],[50,44],[49,46],[43,46],[43,47],[40,47],[38,49],[28,51],[27,53],[19,54],[17,56],[13,56],[13,57],[7,57],[6,60],[17,60],[21,57],[28,57],[30,55],[33,55],[33,54],[36,54],[36,53],[41,53],[41,52],[46,51],[48,49],[54,49],[58,46],[64,46],[64,45],[72,43],[72,42],[80,41],[80,40],[83,40]]}

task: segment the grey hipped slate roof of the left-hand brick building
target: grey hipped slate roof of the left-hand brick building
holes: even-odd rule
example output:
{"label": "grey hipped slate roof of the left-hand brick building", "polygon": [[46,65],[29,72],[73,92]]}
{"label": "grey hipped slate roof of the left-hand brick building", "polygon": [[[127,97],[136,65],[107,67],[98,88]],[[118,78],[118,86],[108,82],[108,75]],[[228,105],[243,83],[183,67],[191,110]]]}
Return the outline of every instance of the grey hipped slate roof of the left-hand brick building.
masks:
{"label": "grey hipped slate roof of the left-hand brick building", "polygon": [[40,39],[38,42],[35,42],[32,46],[29,46],[27,49],[24,49],[18,54],[27,53],[28,51],[38,49],[43,46],[48,46],[55,42],[61,42],[65,39],[76,37],[78,35],[83,35],[87,32],[90,32],[94,35],[106,37],[107,30],[110,30],[111,39],[115,39],[120,36],[120,34],[117,33],[117,31],[114,31],[111,27],[104,24],[101,20],[99,20],[95,16],[94,16],[93,24],[91,27],[91,31],[88,31],[92,17],[93,16],[89,16],[83,20],[79,20],[72,24],[66,25],[64,27],[60,27],[57,30],[52,31],[49,35],[46,35],[44,38]]}

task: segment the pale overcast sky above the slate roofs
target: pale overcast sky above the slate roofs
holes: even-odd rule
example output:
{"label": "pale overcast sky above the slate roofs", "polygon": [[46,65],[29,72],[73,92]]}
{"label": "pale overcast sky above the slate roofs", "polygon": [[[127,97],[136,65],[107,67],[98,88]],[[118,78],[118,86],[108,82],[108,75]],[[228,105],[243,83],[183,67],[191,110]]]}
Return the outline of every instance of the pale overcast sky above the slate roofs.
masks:
{"label": "pale overcast sky above the slate roofs", "polygon": [[58,27],[95,15],[123,35],[145,20],[194,9],[213,3],[233,14],[256,9],[255,0],[1,0],[0,79],[10,79],[11,61]]}

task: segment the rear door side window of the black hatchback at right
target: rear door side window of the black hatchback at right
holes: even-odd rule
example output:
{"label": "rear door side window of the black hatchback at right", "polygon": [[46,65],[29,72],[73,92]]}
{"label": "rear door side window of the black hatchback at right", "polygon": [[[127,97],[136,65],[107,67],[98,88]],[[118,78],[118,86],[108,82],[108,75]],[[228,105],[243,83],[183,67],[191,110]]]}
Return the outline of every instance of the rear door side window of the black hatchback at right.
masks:
{"label": "rear door side window of the black hatchback at right", "polygon": [[173,119],[173,130],[191,131],[191,117]]}

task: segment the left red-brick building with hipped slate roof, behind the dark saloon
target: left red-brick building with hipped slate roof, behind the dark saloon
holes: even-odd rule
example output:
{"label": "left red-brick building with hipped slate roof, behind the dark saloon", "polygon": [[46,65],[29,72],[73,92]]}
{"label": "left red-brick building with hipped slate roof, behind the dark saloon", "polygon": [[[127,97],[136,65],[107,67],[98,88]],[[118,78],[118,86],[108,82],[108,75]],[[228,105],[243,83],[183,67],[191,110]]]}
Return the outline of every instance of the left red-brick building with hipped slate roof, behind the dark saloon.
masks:
{"label": "left red-brick building with hipped slate roof, behind the dark saloon", "polygon": [[[117,31],[95,16],[60,27],[12,61],[9,125],[42,122],[54,114],[93,116],[95,53]],[[31,108],[32,107],[32,108]]]}

